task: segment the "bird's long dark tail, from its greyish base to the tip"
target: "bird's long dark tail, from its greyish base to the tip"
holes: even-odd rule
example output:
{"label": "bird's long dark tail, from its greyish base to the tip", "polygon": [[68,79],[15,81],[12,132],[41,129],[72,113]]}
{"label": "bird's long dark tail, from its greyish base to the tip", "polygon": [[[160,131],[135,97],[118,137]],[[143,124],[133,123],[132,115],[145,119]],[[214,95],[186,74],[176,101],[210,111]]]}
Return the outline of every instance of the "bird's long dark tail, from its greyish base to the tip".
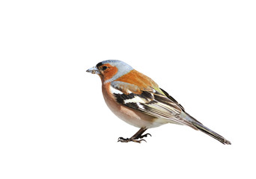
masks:
{"label": "bird's long dark tail, from its greyish base to the tip", "polygon": [[210,128],[205,127],[201,122],[198,122],[195,118],[190,116],[188,113],[186,113],[185,119],[192,123],[192,125],[195,126],[199,131],[202,131],[203,133],[213,137],[214,139],[219,140],[219,142],[222,142],[222,144],[231,145],[231,142],[229,142],[227,139],[225,139],[223,136],[217,134],[216,132],[210,130]]}

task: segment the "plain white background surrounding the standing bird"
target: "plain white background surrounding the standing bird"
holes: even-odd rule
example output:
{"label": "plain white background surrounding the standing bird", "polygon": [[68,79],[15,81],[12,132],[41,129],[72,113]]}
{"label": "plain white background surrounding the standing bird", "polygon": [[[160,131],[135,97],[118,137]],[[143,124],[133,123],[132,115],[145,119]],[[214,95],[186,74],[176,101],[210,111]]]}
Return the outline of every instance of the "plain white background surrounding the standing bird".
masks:
{"label": "plain white background surrounding the standing bird", "polygon": [[[1,1],[0,178],[255,178],[253,1]],[[138,131],[97,75],[124,60],[231,140]]]}

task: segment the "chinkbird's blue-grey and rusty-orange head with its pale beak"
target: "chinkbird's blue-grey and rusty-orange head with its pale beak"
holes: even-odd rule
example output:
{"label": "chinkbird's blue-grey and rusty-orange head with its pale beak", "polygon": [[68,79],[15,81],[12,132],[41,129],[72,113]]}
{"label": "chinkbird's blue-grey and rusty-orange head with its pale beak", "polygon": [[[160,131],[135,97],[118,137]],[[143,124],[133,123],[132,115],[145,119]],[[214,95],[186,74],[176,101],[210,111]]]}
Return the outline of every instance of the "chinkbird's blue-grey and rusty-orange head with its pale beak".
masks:
{"label": "chinkbird's blue-grey and rusty-orange head with its pale beak", "polygon": [[121,60],[104,60],[86,72],[100,75],[104,82],[111,82],[132,71],[132,69],[132,66]]}

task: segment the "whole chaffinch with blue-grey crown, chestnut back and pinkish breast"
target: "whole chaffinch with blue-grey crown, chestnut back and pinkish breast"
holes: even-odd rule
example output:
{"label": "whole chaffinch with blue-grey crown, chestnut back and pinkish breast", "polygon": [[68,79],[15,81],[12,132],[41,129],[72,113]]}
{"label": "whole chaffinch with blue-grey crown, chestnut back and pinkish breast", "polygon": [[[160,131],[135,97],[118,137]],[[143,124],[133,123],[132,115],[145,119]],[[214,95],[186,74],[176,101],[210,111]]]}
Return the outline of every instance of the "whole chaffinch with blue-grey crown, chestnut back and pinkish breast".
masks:
{"label": "whole chaffinch with blue-grey crown, chestnut back and pinkish breast", "polygon": [[129,138],[119,137],[118,142],[146,142],[143,138],[151,136],[144,134],[147,129],[172,123],[189,126],[222,144],[231,145],[223,136],[186,113],[184,107],[168,92],[129,64],[121,60],[103,60],[86,72],[100,76],[103,98],[112,113],[139,128]]}

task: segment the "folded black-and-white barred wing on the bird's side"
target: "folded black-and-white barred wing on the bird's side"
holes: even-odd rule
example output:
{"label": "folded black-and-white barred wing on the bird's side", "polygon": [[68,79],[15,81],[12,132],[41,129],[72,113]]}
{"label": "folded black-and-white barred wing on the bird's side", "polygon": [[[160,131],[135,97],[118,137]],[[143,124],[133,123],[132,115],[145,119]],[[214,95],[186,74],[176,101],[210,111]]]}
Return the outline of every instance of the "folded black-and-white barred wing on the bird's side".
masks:
{"label": "folded black-and-white barred wing on the bird's side", "polygon": [[191,122],[180,117],[183,107],[177,103],[167,92],[155,90],[153,87],[140,89],[135,84],[113,81],[111,91],[119,104],[139,110],[156,118],[164,118],[180,125],[189,125]]}

